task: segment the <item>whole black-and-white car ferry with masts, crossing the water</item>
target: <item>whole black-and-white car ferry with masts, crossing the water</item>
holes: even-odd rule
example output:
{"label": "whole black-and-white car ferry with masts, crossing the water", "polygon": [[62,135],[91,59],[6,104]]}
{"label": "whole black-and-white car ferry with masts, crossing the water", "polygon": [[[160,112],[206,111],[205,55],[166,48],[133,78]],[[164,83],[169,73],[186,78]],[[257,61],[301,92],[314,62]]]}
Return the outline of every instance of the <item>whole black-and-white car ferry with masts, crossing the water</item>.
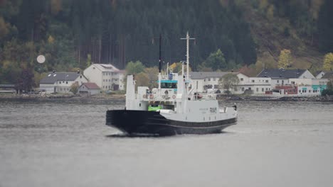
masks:
{"label": "whole black-and-white car ferry with masts, crossing the water", "polygon": [[189,33],[185,39],[186,74],[183,63],[181,74],[162,75],[160,55],[158,88],[138,86],[136,91],[135,77],[128,75],[126,106],[107,111],[106,125],[129,135],[179,135],[218,133],[237,123],[236,105],[219,108],[216,94],[198,94],[189,87]]}

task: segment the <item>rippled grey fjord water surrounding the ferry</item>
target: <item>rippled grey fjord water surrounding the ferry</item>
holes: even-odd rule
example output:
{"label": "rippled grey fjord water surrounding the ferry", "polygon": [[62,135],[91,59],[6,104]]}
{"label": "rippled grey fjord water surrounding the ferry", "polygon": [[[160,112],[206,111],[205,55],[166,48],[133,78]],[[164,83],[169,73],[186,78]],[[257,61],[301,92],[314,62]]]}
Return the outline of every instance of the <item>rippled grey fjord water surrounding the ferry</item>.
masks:
{"label": "rippled grey fjord water surrounding the ferry", "polygon": [[237,104],[221,134],[126,137],[123,100],[0,101],[0,186],[333,185],[333,103]]}

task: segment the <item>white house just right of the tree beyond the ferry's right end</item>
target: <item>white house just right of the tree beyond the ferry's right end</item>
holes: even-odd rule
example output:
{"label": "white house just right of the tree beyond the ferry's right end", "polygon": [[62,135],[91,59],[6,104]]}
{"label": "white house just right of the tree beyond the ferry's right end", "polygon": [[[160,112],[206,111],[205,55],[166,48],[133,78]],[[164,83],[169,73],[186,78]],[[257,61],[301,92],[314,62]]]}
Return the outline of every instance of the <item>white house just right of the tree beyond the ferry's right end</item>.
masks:
{"label": "white house just right of the tree beyond the ferry's right end", "polygon": [[239,83],[233,90],[233,94],[265,94],[272,89],[270,77],[248,77],[238,73]]}

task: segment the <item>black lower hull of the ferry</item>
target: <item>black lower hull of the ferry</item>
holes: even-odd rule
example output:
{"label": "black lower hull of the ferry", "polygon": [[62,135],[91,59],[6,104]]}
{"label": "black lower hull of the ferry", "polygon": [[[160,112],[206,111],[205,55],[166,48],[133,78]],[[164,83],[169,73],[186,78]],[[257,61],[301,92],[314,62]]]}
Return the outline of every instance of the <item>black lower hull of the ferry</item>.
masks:
{"label": "black lower hull of the ferry", "polygon": [[129,135],[179,135],[218,133],[230,125],[235,125],[237,118],[209,121],[204,123],[169,120],[152,111],[107,111],[106,125],[115,127]]}

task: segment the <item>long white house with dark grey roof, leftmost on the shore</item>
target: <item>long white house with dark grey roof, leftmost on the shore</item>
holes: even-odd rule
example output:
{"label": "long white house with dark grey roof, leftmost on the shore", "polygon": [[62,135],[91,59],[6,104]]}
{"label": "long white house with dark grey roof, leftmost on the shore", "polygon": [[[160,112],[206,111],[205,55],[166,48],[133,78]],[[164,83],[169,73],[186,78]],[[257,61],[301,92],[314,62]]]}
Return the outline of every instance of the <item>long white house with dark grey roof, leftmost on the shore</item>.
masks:
{"label": "long white house with dark grey roof, leftmost on the shore", "polygon": [[74,72],[53,72],[41,79],[39,89],[47,94],[51,93],[70,93],[70,86],[78,83],[79,86],[88,82],[82,74]]}

